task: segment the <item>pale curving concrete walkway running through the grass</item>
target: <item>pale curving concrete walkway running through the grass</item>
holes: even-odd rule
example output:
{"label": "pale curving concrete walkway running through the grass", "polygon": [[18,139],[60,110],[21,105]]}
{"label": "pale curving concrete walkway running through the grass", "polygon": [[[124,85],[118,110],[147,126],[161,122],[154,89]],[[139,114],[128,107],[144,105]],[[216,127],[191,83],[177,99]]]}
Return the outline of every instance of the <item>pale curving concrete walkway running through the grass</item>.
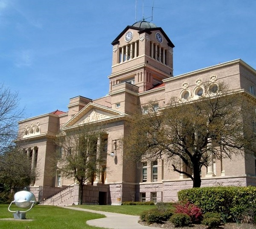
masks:
{"label": "pale curving concrete walkway running through the grass", "polygon": [[159,229],[157,227],[143,226],[138,223],[139,216],[124,215],[112,212],[99,212],[89,209],[74,208],[69,206],[63,206],[67,209],[73,209],[77,211],[93,212],[97,214],[105,215],[105,218],[88,220],[86,223],[90,226],[98,226],[110,229]]}

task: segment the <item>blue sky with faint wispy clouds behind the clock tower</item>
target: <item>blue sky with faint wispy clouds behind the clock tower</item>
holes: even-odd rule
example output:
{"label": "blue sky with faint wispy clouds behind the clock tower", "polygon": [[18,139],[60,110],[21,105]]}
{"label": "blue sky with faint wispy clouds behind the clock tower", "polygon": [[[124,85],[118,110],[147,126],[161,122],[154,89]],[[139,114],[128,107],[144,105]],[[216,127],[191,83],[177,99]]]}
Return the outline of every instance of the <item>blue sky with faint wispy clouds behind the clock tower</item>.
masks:
{"label": "blue sky with faint wispy clouds behind the clock tower", "polygon": [[[0,0],[0,82],[26,117],[108,94],[111,42],[135,22],[135,2]],[[137,0],[137,20],[153,2],[152,22],[175,45],[174,75],[238,58],[256,68],[255,0]]]}

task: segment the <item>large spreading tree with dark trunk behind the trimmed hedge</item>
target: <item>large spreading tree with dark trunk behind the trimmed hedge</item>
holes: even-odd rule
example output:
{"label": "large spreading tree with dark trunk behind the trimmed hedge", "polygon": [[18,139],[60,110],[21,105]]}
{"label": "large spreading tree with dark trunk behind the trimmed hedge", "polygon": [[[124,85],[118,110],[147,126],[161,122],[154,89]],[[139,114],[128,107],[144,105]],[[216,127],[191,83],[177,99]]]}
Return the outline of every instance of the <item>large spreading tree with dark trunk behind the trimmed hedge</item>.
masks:
{"label": "large spreading tree with dark trunk behind the trimmed hedge", "polygon": [[[149,102],[148,113],[136,113],[129,122],[131,132],[124,138],[128,157],[137,162],[165,157],[174,171],[191,178],[193,187],[200,187],[201,168],[212,157],[254,153],[255,102],[242,91],[233,93],[224,83],[218,89],[210,84],[204,88],[197,100],[172,98],[158,110],[155,102]],[[180,161],[187,170],[179,168]]]}

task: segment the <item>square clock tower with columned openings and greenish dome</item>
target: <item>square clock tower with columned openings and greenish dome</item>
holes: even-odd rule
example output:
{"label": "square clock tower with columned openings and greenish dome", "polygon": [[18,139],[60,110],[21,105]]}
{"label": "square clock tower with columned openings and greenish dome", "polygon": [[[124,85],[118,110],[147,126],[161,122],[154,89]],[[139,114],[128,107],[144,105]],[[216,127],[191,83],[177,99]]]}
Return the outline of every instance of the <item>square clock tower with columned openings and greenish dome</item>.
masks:
{"label": "square clock tower with columned openings and greenish dome", "polygon": [[174,44],[162,28],[145,20],[127,26],[113,45],[110,93],[128,82],[144,92],[173,76]]}

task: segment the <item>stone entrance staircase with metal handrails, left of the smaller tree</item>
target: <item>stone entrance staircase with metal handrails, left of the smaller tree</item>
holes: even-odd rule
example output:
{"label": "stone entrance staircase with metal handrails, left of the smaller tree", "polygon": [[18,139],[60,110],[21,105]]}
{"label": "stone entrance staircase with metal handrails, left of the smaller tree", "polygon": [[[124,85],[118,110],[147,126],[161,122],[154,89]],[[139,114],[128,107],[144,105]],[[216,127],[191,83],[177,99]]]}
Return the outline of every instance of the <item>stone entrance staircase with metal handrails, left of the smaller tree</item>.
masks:
{"label": "stone entrance staircase with metal handrails, left of the smaller tree", "polygon": [[52,206],[67,206],[73,204],[73,191],[74,186],[69,186],[64,190],[54,194],[48,199],[41,202],[41,205],[52,205]]}

